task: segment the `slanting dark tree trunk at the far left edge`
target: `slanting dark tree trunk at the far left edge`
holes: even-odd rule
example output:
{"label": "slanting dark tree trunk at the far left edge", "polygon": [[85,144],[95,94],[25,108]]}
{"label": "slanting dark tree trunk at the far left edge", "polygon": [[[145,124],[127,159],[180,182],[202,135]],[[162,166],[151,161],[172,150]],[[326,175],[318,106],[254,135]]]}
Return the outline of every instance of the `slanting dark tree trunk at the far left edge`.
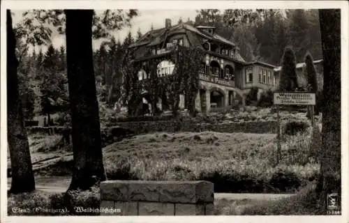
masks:
{"label": "slanting dark tree trunk at the far left edge", "polygon": [[7,21],[7,124],[8,147],[10,151],[12,183],[10,193],[35,190],[35,180],[31,166],[29,142],[24,128],[23,112],[18,91],[17,66],[15,56],[15,33],[13,33],[10,10],[6,11]]}

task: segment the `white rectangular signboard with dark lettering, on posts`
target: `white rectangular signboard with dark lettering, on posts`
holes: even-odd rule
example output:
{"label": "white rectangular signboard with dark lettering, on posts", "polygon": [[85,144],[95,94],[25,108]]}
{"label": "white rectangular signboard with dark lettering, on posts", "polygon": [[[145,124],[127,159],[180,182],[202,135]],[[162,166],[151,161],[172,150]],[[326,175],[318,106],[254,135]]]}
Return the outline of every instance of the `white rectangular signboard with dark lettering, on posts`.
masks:
{"label": "white rectangular signboard with dark lettering, on posts", "polygon": [[274,105],[315,105],[315,93],[274,92]]}

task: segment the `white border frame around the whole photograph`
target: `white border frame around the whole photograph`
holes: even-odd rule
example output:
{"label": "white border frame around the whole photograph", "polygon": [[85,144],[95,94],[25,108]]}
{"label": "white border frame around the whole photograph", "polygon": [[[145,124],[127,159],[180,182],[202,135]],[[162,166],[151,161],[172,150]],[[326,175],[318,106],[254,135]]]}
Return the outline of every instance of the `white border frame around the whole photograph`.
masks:
{"label": "white border frame around the whole photograph", "polygon": [[[45,8],[137,8],[199,9],[199,8],[341,8],[341,139],[342,139],[342,215],[340,216],[205,216],[205,217],[7,217],[7,180],[1,180],[1,222],[349,222],[348,210],[348,2],[347,1],[1,1],[1,179],[6,179],[7,116],[6,116],[6,9]],[[347,61],[347,62],[346,62]]]}

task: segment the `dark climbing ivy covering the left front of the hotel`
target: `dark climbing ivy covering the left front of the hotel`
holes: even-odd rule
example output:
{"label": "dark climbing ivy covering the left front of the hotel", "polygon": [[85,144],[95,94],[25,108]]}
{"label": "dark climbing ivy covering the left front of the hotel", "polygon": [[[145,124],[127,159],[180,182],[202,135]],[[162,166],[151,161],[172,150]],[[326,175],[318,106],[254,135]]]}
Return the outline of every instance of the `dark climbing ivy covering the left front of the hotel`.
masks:
{"label": "dark climbing ivy covering the left front of the hotel", "polygon": [[[130,116],[137,116],[138,107],[142,102],[142,92],[147,91],[151,106],[156,108],[158,98],[165,98],[172,108],[172,113],[177,115],[179,95],[185,94],[188,99],[188,109],[193,115],[195,113],[195,96],[198,93],[198,72],[202,61],[202,54],[199,49],[180,47],[177,51],[165,59],[174,61],[176,64],[172,75],[158,78],[156,69],[158,63],[164,59],[147,61],[146,72],[149,78],[138,81],[137,72],[142,65],[132,60],[132,54],[128,54],[124,65],[123,98],[127,101]],[[127,99],[126,99],[127,98]]]}

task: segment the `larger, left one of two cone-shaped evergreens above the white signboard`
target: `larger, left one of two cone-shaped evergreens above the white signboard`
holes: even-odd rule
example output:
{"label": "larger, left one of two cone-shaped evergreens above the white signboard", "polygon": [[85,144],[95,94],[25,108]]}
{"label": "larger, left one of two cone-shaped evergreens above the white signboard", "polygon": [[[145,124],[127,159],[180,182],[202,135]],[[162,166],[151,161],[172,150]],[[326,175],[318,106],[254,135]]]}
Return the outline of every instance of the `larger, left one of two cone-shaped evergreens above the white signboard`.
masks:
{"label": "larger, left one of two cone-shaped evergreens above the white signboard", "polygon": [[291,47],[286,47],[283,53],[282,67],[280,72],[280,91],[295,91],[298,88],[296,73],[295,52]]}

